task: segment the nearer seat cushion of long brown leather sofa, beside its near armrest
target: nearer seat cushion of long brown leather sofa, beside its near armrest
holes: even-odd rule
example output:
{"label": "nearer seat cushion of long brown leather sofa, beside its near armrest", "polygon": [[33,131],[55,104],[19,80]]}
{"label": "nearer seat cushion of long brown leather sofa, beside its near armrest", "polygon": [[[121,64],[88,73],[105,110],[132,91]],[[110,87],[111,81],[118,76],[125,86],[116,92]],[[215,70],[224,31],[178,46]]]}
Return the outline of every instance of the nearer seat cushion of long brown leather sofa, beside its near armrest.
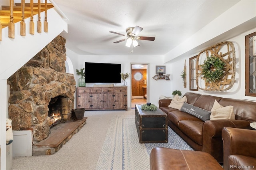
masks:
{"label": "nearer seat cushion of long brown leather sofa, beside its near armrest", "polygon": [[202,145],[203,124],[202,121],[180,121],[179,128],[196,143]]}

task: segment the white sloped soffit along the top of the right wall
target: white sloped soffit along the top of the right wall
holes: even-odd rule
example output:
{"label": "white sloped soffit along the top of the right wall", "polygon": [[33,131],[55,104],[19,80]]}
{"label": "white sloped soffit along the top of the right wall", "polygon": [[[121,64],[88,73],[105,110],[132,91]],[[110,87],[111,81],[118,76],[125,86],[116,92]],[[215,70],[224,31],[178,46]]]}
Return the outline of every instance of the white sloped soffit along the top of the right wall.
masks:
{"label": "white sloped soffit along the top of the right wall", "polygon": [[197,50],[201,51],[213,44],[255,28],[255,11],[256,0],[241,0],[193,36],[171,49],[165,55],[164,62],[175,60],[177,57],[187,57]]}

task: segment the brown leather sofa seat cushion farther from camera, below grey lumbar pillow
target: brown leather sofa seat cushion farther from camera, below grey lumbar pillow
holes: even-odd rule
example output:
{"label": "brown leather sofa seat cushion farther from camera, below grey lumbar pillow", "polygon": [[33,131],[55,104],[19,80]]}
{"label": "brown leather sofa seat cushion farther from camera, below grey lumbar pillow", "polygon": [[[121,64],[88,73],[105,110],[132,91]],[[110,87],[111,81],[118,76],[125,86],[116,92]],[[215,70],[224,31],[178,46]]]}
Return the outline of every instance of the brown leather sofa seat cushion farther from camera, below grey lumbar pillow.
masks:
{"label": "brown leather sofa seat cushion farther from camera, below grey lumbar pillow", "polygon": [[174,125],[179,127],[179,121],[187,120],[187,121],[201,121],[201,119],[194,117],[188,113],[184,113],[182,111],[172,111],[168,113],[168,120],[170,120]]}

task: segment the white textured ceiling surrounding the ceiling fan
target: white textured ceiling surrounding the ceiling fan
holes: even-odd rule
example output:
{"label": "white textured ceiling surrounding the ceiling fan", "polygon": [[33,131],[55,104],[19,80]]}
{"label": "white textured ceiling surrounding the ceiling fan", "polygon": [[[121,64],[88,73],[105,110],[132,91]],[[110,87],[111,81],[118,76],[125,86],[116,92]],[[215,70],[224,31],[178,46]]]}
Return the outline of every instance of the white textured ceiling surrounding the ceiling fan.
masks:
{"label": "white textured ceiling surrounding the ceiling fan", "polygon": [[[54,0],[66,15],[66,47],[81,55],[164,55],[239,0]],[[133,52],[126,42],[113,43],[126,28],[144,28]]]}

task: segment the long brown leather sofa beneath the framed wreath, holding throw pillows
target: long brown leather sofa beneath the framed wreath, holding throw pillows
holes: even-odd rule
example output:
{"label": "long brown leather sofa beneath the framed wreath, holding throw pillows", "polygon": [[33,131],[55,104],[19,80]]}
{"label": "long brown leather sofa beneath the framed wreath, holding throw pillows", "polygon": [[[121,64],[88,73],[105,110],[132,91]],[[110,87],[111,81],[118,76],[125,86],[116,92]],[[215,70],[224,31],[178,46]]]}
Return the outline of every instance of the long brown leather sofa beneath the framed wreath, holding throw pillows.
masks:
{"label": "long brown leather sofa beneath the framed wreath, holding throw pillows", "polygon": [[211,154],[219,163],[223,162],[222,128],[249,128],[256,122],[256,103],[252,101],[186,93],[187,103],[211,111],[216,100],[223,107],[233,105],[235,120],[220,119],[203,122],[201,119],[168,107],[172,99],[160,99],[159,108],[168,114],[168,125],[194,150]]}

